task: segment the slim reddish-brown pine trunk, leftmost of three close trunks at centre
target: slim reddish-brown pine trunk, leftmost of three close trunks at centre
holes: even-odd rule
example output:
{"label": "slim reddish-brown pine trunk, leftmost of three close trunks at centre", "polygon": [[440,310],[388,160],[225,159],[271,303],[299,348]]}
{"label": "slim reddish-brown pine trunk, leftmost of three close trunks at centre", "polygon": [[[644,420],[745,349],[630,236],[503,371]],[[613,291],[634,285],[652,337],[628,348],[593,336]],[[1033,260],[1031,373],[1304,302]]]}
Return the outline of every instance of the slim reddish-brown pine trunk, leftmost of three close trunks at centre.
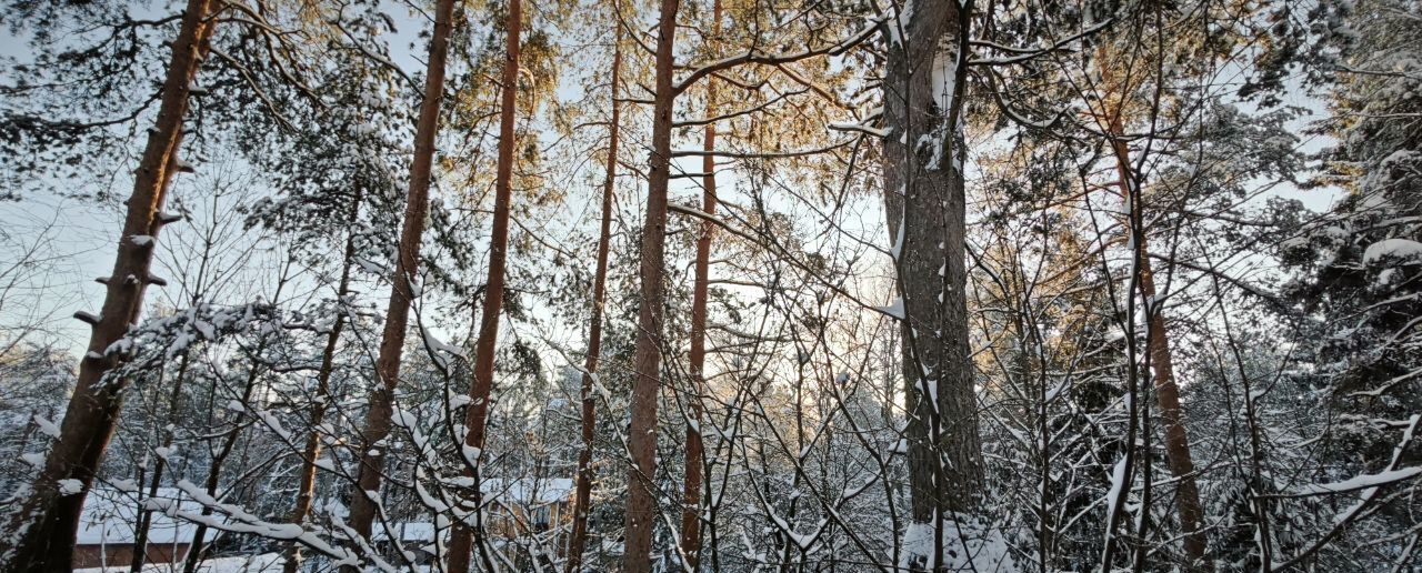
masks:
{"label": "slim reddish-brown pine trunk, leftmost of three close trunks at centre", "polygon": [[587,331],[587,358],[583,364],[583,451],[577,454],[577,489],[573,498],[573,533],[567,539],[567,573],[577,573],[587,549],[587,509],[593,496],[593,434],[597,429],[597,404],[593,377],[603,348],[603,303],[607,300],[607,250],[611,243],[613,189],[617,182],[617,135],[621,105],[617,81],[621,78],[621,27],[613,44],[611,119],[607,124],[607,178],[603,181],[603,222],[597,233],[597,274],[593,279],[593,316]]}

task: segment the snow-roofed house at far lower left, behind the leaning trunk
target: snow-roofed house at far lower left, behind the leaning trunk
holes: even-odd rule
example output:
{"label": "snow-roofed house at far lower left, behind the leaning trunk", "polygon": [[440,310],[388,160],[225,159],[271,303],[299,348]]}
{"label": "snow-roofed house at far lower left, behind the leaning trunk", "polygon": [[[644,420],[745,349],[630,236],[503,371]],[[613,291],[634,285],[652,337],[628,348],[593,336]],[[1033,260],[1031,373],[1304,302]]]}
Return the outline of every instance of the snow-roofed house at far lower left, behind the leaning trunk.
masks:
{"label": "snow-roofed house at far lower left, behind the leaning trunk", "polygon": [[[134,559],[135,530],[138,529],[138,493],[121,492],[114,488],[94,488],[84,499],[84,513],[80,516],[80,530],[74,542],[74,562],[78,567],[128,566]],[[148,499],[144,495],[144,499]],[[148,563],[178,563],[188,556],[188,547],[198,526],[176,518],[178,512],[199,513],[202,505],[192,500],[176,488],[159,488],[152,498],[154,506],[166,510],[151,512],[148,543],[144,552]],[[205,542],[216,536],[208,529]]]}

